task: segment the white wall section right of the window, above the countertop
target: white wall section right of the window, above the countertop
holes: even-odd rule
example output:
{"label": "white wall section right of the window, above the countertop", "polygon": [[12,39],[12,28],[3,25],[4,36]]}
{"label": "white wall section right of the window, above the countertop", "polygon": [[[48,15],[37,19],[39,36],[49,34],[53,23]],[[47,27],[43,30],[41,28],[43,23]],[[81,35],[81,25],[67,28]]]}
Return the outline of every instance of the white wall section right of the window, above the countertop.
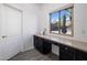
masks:
{"label": "white wall section right of the window, above the countertop", "polygon": [[74,37],[87,42],[87,4],[75,4]]}

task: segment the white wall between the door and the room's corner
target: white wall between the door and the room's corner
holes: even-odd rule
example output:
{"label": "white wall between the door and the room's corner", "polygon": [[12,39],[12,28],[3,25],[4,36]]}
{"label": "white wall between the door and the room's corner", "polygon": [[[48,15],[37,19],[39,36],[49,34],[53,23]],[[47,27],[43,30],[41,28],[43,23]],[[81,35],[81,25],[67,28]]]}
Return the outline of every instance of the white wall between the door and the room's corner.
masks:
{"label": "white wall between the door and the room's corner", "polygon": [[23,11],[23,51],[33,48],[33,34],[39,30],[39,6],[35,3],[11,3]]}

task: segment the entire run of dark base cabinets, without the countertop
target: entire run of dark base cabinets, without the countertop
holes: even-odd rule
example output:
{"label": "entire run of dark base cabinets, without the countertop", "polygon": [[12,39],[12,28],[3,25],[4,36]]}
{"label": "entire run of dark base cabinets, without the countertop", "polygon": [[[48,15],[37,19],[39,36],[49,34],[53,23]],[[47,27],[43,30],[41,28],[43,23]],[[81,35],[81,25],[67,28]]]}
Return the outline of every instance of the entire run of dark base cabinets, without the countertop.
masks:
{"label": "entire run of dark base cabinets, without the countertop", "polygon": [[87,61],[87,52],[34,35],[34,47],[41,53],[52,52],[52,44],[59,46],[59,61]]}

